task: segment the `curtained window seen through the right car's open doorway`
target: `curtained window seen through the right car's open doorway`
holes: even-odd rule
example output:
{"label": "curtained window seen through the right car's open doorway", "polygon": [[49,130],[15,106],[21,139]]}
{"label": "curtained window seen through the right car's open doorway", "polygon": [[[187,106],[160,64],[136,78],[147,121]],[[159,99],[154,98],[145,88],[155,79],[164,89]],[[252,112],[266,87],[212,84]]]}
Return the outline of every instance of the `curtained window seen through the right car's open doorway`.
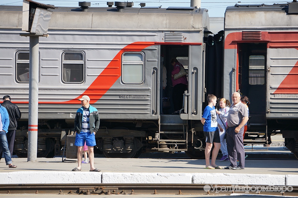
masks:
{"label": "curtained window seen through the right car's open doorway", "polygon": [[265,56],[249,56],[249,84],[265,83]]}

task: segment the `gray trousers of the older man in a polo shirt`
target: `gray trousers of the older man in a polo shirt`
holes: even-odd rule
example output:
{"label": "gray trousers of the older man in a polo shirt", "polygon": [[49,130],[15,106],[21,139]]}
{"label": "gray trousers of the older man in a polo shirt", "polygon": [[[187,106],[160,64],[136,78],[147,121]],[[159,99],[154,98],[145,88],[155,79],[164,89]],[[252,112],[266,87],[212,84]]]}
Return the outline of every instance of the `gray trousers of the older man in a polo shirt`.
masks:
{"label": "gray trousers of the older man in a polo shirt", "polygon": [[239,160],[239,167],[244,168],[245,165],[245,152],[243,146],[243,132],[242,127],[239,133],[235,133],[235,128],[229,127],[226,129],[226,148],[228,150],[229,159],[232,167],[237,166],[237,159]]}

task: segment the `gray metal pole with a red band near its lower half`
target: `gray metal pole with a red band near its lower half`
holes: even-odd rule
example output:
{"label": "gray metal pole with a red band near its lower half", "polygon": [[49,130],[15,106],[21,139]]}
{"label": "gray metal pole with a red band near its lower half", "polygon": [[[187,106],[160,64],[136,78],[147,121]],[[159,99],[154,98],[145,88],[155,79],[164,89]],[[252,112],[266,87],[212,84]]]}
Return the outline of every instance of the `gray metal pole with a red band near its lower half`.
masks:
{"label": "gray metal pole with a red band near its lower half", "polygon": [[30,36],[28,159],[37,158],[39,37]]}

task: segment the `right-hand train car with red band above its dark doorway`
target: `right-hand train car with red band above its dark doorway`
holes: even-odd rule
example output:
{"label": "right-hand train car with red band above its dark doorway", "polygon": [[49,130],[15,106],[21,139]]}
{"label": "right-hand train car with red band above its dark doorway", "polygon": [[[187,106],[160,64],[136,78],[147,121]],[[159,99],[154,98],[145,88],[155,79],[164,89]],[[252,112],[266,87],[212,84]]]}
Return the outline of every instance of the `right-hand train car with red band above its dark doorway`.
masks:
{"label": "right-hand train car with red band above its dark doorway", "polygon": [[297,8],[297,2],[227,7],[223,95],[246,95],[249,135],[270,143],[270,135],[282,133],[298,158]]}

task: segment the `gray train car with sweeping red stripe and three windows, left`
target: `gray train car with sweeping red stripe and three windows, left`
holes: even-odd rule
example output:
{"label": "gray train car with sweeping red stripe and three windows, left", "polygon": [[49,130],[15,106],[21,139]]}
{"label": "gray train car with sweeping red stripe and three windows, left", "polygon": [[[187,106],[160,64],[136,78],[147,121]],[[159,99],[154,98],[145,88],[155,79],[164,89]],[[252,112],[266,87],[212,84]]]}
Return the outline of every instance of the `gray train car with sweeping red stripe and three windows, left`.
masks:
{"label": "gray train car with sweeping red stripe and three windows, left", "polygon": [[[22,112],[15,153],[26,157],[29,37],[20,36],[22,7],[0,6],[0,16],[0,96],[10,95]],[[97,147],[105,156],[157,151],[204,156],[193,152],[193,139],[202,131],[208,28],[207,10],[195,7],[53,10],[49,37],[39,39],[38,157],[59,155],[83,95],[99,111]],[[178,115],[172,115],[173,108],[162,109],[162,98],[173,102],[171,58],[188,71]]]}

